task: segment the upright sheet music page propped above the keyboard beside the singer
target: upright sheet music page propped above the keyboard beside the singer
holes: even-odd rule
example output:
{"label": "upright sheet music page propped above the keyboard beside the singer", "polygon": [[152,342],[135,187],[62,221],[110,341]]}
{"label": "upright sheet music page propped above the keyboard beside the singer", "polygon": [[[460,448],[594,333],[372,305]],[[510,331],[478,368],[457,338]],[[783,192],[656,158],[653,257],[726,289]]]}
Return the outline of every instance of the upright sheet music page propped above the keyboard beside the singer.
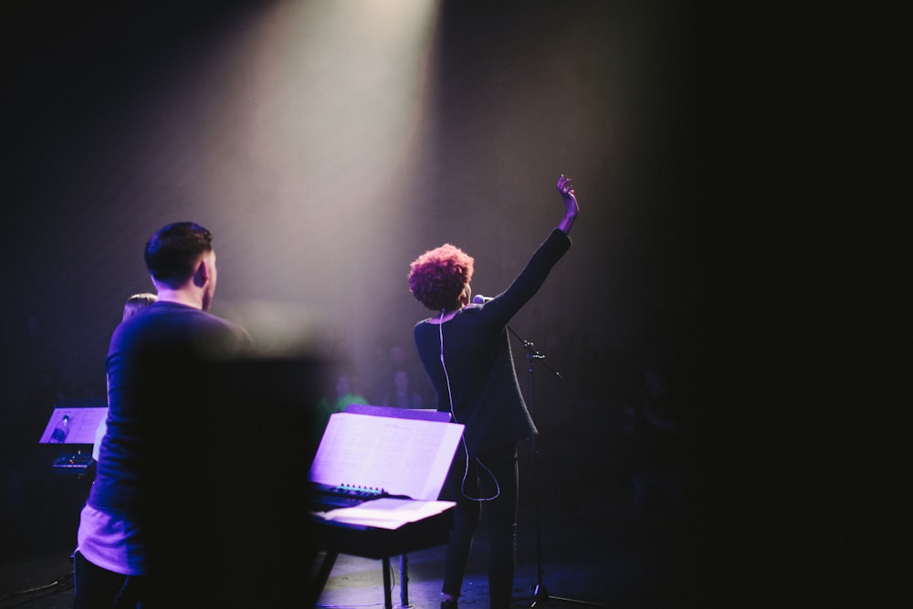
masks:
{"label": "upright sheet music page propped above the keyboard beside the singer", "polygon": [[463,425],[454,423],[336,413],[320,441],[310,479],[435,500],[462,434]]}

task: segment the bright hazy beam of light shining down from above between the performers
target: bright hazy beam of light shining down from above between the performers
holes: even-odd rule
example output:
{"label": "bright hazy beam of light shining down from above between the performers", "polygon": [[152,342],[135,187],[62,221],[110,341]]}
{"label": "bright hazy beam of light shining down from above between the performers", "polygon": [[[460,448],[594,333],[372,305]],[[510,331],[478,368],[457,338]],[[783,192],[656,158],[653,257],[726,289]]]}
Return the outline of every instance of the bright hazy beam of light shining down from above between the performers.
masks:
{"label": "bright hazy beam of light shining down from above between the performers", "polygon": [[407,224],[436,14],[429,0],[278,2],[163,88],[140,180],[213,230],[216,309],[266,295],[360,336],[376,321],[364,303],[402,275],[387,252]]}

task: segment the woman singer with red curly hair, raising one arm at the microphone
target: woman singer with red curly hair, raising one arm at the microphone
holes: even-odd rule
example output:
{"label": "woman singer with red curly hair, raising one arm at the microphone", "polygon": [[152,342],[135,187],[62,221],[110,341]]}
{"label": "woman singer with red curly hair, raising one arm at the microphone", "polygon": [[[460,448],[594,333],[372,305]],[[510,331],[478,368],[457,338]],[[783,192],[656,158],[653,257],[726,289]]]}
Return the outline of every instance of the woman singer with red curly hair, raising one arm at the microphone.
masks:
{"label": "woman singer with red curly hair, raising one arm at the microphone", "polygon": [[441,609],[456,609],[469,551],[485,504],[490,539],[492,609],[509,607],[517,540],[517,444],[537,433],[520,393],[508,323],[539,291],[571,248],[579,206],[571,179],[558,178],[564,217],[509,288],[472,299],[474,259],[444,244],[412,262],[409,289],[434,315],[415,325],[415,345],[435,386],[437,410],[466,425],[447,477],[444,499],[456,501],[446,549]]}

